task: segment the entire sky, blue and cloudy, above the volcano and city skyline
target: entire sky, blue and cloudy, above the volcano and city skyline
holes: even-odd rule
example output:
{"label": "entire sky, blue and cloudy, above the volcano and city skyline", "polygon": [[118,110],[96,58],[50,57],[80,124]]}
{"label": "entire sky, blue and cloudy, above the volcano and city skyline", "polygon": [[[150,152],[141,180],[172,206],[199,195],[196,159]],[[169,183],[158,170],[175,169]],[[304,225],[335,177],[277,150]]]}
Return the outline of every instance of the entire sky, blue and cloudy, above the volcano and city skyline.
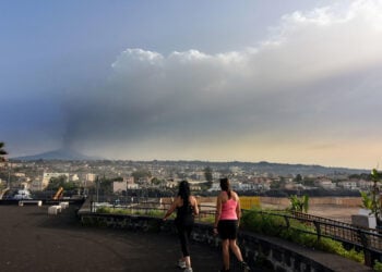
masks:
{"label": "entire sky, blue and cloudy, above the volcano and city skyline", "polygon": [[0,140],[131,160],[381,162],[380,1],[0,2]]}

